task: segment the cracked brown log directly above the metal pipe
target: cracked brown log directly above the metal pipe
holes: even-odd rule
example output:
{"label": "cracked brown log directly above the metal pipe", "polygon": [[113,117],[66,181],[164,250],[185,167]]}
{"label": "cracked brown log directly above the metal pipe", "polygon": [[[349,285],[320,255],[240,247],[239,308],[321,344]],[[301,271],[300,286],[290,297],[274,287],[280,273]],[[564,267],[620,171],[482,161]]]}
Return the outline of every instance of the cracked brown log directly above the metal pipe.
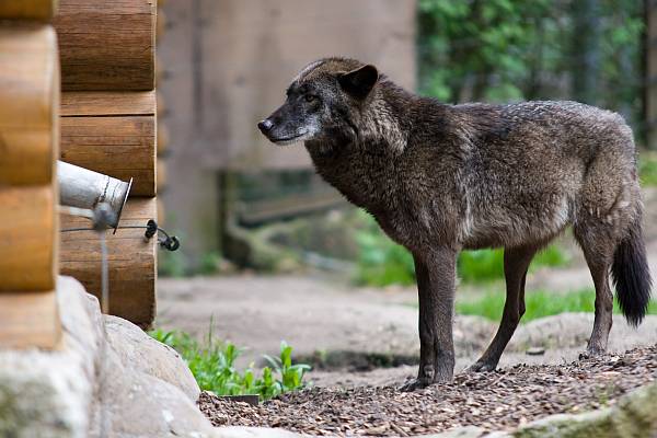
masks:
{"label": "cracked brown log directly above the metal pipe", "polygon": [[61,99],[61,160],[128,181],[154,196],[154,92],[68,92]]}

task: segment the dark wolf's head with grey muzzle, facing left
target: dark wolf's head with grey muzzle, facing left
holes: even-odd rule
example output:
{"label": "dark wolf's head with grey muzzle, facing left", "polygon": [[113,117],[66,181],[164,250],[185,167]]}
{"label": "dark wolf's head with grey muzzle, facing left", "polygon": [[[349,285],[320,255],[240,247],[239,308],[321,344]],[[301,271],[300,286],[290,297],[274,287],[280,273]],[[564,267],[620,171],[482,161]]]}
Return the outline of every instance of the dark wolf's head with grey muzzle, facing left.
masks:
{"label": "dark wolf's head with grey muzzle, facing left", "polygon": [[257,127],[276,145],[354,140],[378,81],[374,66],[346,58],[320,59],[299,72],[283,106]]}

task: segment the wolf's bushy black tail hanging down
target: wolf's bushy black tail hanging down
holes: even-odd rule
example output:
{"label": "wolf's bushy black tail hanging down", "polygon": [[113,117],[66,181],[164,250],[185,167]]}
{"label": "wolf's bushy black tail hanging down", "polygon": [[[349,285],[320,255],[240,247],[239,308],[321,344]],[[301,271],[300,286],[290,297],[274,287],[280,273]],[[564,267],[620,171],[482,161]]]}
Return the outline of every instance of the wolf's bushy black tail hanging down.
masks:
{"label": "wolf's bushy black tail hanging down", "polygon": [[637,326],[648,309],[653,286],[641,215],[637,215],[627,234],[615,250],[611,275],[621,311],[630,325]]}

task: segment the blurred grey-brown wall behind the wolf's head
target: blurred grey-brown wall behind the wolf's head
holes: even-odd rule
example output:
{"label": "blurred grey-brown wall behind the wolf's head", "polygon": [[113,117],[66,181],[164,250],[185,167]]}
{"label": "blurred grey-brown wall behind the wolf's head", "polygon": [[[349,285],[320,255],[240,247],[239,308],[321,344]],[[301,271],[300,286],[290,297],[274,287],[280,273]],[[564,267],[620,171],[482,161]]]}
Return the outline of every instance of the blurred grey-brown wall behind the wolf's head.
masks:
{"label": "blurred grey-brown wall behind the wolf's head", "polygon": [[176,0],[164,13],[158,88],[171,154],[163,198],[188,255],[217,244],[218,170],[310,168],[303,148],[275,148],[255,128],[301,67],[349,56],[415,84],[415,0]]}

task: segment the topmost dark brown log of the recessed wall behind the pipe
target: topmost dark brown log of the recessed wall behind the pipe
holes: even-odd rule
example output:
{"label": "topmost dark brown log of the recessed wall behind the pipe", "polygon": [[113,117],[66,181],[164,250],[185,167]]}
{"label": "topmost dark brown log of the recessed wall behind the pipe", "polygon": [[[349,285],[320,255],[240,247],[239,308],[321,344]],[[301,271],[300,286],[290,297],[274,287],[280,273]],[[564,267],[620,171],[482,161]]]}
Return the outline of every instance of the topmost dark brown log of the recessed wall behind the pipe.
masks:
{"label": "topmost dark brown log of the recessed wall behind the pipe", "polygon": [[153,0],[59,0],[62,90],[152,90],[155,11]]}

